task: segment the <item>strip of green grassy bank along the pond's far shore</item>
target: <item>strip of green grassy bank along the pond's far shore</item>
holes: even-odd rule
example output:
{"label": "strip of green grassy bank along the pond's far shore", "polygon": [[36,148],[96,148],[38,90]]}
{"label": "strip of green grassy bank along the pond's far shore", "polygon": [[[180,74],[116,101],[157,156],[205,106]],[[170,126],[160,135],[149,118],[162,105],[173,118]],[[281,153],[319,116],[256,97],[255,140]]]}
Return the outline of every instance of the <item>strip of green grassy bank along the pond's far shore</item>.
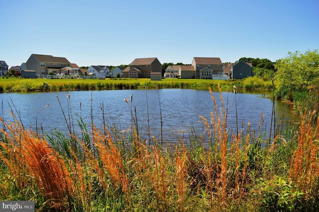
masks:
{"label": "strip of green grassy bank along the pond's far shore", "polygon": [[235,85],[238,89],[272,88],[271,81],[257,77],[244,80],[211,80],[211,79],[150,79],[106,78],[101,79],[24,79],[0,78],[0,92],[30,92],[30,91],[62,91],[62,90],[108,90],[108,89],[148,89],[154,88],[194,88],[217,89],[219,84],[223,90]]}

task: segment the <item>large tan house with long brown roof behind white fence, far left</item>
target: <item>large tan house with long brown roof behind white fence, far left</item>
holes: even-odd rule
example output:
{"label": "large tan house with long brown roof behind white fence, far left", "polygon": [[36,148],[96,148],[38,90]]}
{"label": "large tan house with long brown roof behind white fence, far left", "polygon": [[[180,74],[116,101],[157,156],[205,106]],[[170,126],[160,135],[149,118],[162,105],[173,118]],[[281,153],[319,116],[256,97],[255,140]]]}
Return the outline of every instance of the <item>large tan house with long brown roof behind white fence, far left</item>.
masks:
{"label": "large tan house with long brown roof behind white fence, far left", "polygon": [[52,55],[31,54],[25,62],[26,69],[35,70],[36,74],[62,73],[63,67],[70,67],[71,63],[65,57],[54,57]]}

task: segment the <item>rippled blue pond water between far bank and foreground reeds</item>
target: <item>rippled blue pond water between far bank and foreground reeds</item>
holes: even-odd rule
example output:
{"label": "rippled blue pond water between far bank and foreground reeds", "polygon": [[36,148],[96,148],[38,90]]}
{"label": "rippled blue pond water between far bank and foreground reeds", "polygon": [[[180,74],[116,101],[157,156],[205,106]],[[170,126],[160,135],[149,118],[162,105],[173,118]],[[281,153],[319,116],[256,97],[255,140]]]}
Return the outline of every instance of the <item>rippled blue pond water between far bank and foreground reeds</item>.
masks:
{"label": "rippled blue pond water between far bank and foreground reeds", "polygon": [[[220,114],[220,94],[214,92],[213,95]],[[263,114],[262,131],[270,131],[273,100],[266,98],[264,94],[252,93],[235,95],[222,92],[222,96],[230,132],[236,132],[237,129],[236,105],[239,130],[247,130],[247,123],[250,122],[251,129],[258,131]],[[124,101],[125,98],[128,103]],[[145,138],[150,132],[151,137],[160,138],[163,134],[165,139],[178,139],[188,137],[190,131],[195,131],[198,135],[203,133],[206,128],[199,116],[205,117],[210,123],[211,111],[215,113],[209,91],[194,89],[2,93],[0,99],[0,115],[4,121],[12,120],[10,112],[13,111],[15,116],[20,116],[24,128],[36,131],[37,127],[46,132],[57,129],[67,133],[71,122],[75,131],[80,133],[77,124],[80,118],[87,124],[88,130],[91,129],[92,120],[101,129],[105,123],[118,131],[128,130],[131,129],[133,114],[140,134]],[[275,101],[275,111],[277,125],[280,120],[284,120],[285,124],[299,119],[289,105],[281,101]]]}

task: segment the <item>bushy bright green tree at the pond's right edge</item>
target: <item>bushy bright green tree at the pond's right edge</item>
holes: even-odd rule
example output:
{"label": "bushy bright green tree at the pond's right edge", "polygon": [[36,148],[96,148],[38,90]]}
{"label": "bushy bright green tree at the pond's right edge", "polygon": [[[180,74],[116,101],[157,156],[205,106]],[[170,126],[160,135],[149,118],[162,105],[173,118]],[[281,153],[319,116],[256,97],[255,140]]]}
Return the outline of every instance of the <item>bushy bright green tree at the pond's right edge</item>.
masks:
{"label": "bushy bright green tree at the pond's right edge", "polygon": [[276,62],[276,97],[293,100],[294,91],[306,91],[318,86],[318,49],[305,53],[288,52],[288,56]]}

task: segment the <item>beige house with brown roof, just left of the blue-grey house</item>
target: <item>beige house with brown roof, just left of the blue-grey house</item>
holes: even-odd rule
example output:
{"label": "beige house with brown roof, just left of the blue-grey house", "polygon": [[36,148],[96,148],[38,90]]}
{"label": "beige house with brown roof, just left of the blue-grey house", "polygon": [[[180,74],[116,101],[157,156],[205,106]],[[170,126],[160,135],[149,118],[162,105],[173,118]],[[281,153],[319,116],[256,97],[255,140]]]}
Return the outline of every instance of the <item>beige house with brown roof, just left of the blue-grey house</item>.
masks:
{"label": "beige house with brown roof, just left of the blue-grey house", "polygon": [[224,79],[224,66],[219,57],[194,57],[191,65],[195,69],[196,78]]}

